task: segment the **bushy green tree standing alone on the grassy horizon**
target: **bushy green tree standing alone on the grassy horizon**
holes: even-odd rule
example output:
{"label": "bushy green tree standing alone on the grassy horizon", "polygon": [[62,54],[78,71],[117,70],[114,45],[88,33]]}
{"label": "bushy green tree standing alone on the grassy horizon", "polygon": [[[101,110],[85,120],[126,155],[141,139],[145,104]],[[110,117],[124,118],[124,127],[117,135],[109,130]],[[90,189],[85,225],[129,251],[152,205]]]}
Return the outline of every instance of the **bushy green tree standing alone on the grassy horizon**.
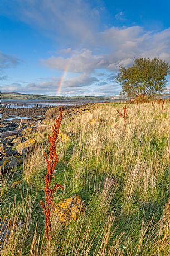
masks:
{"label": "bushy green tree standing alone on the grassy horizon", "polygon": [[169,68],[169,63],[158,58],[134,58],[133,66],[120,67],[115,81],[122,85],[122,95],[144,99],[165,89]]}

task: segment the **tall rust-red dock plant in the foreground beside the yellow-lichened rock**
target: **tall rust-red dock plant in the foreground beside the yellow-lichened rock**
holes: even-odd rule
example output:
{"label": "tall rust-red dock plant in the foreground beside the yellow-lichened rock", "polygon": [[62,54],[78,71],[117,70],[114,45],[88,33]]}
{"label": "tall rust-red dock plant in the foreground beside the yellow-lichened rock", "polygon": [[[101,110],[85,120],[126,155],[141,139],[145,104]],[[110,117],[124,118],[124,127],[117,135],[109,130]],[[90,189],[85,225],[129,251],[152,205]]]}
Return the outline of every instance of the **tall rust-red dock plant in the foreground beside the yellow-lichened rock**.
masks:
{"label": "tall rust-red dock plant in the foreground beside the yellow-lichened rock", "polygon": [[[50,220],[50,210],[54,210],[54,202],[53,202],[53,194],[57,188],[64,189],[60,184],[56,183],[54,176],[54,169],[57,164],[58,155],[56,153],[56,139],[59,135],[59,128],[61,124],[62,117],[62,106],[59,117],[55,120],[55,124],[52,126],[52,137],[48,134],[48,141],[50,143],[48,157],[45,152],[43,155],[45,156],[45,160],[47,163],[47,172],[45,175],[45,184],[46,187],[44,189],[46,194],[46,206],[43,204],[42,200],[40,201],[41,207],[43,209],[43,213],[45,213],[46,217],[46,235],[47,239],[50,239],[51,233],[51,220]],[[51,188],[51,181],[54,179],[54,187]]]}

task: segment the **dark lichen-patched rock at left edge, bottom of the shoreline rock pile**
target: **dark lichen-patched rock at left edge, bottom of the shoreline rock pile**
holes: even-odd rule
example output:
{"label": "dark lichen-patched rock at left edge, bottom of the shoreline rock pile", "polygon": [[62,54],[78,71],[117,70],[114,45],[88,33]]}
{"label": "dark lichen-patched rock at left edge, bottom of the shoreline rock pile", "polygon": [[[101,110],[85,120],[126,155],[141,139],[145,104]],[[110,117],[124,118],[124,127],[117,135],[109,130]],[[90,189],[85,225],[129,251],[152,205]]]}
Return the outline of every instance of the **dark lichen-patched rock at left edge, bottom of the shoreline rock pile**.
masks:
{"label": "dark lichen-patched rock at left edge, bottom of the shoreline rock pile", "polygon": [[21,156],[8,156],[4,157],[0,161],[0,170],[7,171],[8,169],[12,169],[12,167],[17,167],[23,161]]}

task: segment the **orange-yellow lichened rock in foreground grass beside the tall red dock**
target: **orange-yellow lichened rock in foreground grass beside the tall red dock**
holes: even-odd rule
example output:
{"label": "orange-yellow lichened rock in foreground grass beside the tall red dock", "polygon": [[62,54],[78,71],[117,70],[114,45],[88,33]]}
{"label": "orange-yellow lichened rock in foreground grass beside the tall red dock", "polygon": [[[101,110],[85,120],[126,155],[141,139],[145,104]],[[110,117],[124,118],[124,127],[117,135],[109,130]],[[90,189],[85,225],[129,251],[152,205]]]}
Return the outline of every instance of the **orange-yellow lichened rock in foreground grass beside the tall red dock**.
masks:
{"label": "orange-yellow lichened rock in foreground grass beside the tall red dock", "polygon": [[62,224],[69,224],[70,221],[77,220],[85,210],[84,202],[79,194],[64,199],[55,205],[54,214]]}

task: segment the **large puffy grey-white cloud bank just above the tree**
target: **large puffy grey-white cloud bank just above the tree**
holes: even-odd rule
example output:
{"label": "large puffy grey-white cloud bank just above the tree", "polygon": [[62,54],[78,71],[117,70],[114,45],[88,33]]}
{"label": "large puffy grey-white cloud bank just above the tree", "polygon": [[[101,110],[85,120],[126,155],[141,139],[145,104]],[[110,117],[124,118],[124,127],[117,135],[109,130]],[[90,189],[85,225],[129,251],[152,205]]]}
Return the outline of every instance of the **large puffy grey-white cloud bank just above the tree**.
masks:
{"label": "large puffy grey-white cloud bank just above the tree", "polygon": [[[146,32],[142,27],[112,27],[96,35],[96,45],[100,54],[94,50],[71,51],[70,58],[51,56],[42,63],[54,69],[70,72],[94,72],[98,69],[118,71],[119,66],[129,66],[134,57],[158,57],[170,62],[170,29],[161,32]],[[105,49],[108,50],[107,53]]]}

